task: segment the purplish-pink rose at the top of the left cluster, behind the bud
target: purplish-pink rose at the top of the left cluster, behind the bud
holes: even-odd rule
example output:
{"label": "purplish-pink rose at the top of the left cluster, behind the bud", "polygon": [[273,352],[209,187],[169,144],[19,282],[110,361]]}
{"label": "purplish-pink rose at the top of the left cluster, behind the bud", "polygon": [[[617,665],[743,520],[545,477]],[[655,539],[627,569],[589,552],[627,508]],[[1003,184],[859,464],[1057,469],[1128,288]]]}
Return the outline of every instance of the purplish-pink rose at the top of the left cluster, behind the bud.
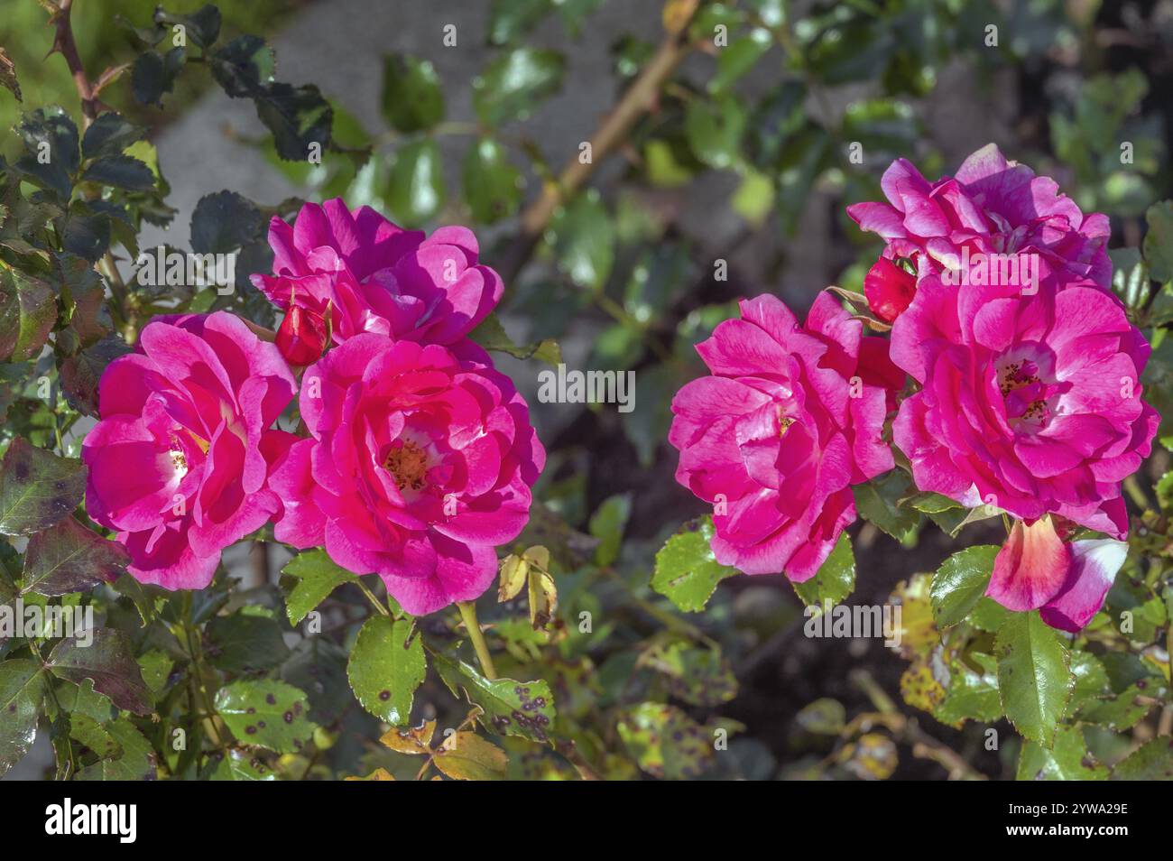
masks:
{"label": "purplish-pink rose at the top of the left cluster, behind the bud", "polygon": [[283,310],[328,321],[334,344],[360,332],[422,344],[455,344],[501,300],[501,278],[477,263],[467,228],[432,236],[404,230],[369,206],[341,198],[301,206],[292,225],[269,226],[273,274],[252,283]]}

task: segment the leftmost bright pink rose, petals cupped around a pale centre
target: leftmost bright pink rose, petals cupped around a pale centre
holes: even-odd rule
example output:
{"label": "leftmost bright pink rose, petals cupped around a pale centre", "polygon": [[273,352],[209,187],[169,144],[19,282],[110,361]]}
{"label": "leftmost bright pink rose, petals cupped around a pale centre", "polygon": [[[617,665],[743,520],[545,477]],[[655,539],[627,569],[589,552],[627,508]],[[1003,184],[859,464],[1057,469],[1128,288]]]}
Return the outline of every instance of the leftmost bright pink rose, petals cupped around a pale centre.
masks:
{"label": "leftmost bright pink rose, petals cupped around a pale centre", "polygon": [[225,311],[156,318],[110,362],[82,442],[86,509],[136,579],[203,589],[221,550],[278,511],[263,449],[294,391],[277,348]]}

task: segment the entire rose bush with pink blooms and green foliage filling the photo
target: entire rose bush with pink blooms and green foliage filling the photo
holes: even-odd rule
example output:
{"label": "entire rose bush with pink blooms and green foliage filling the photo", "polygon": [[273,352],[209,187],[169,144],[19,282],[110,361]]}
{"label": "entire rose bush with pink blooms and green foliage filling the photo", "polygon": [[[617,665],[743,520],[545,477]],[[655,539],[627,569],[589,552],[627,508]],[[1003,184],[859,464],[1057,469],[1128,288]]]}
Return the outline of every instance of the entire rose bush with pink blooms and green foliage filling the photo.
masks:
{"label": "entire rose bush with pink blooms and green foliage filling the photo", "polygon": [[1160,7],[604,2],[6,9],[0,775],[1171,773]]}

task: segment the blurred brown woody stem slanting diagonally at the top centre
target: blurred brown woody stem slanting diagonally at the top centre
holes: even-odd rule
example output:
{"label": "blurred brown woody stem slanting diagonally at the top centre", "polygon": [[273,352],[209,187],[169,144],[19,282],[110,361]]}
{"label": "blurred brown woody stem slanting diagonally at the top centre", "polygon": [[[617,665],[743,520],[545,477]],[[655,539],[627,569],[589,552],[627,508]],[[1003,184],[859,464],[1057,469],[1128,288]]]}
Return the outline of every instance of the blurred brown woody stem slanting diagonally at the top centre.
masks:
{"label": "blurred brown woody stem slanting diagonally at the top centre", "polygon": [[[701,5],[697,4],[697,8]],[[682,26],[664,38],[656,55],[623,94],[615,109],[606,115],[595,134],[591,135],[590,161],[584,164],[578,160],[576,152],[562,168],[557,179],[547,183],[541,196],[522,212],[521,232],[501,265],[501,274],[506,284],[513,283],[517,273],[521,272],[558,206],[590,179],[606,156],[622,147],[628,133],[639,117],[655,107],[660,89],[692,49],[687,34],[689,25],[696,13],[694,8],[689,19],[682,22]]]}

